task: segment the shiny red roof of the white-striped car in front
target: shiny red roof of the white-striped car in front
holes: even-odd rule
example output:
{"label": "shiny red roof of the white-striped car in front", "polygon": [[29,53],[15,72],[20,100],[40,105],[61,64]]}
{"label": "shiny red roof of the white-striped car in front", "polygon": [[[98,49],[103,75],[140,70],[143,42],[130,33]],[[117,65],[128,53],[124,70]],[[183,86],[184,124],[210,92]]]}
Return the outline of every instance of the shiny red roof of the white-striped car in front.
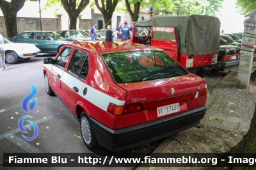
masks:
{"label": "shiny red roof of the white-striped car in front", "polygon": [[94,54],[97,53],[109,53],[109,52],[122,52],[122,51],[136,51],[136,50],[161,50],[157,47],[150,47],[147,45],[141,45],[138,43],[129,42],[73,42],[68,45],[80,47],[85,50],[89,50]]}

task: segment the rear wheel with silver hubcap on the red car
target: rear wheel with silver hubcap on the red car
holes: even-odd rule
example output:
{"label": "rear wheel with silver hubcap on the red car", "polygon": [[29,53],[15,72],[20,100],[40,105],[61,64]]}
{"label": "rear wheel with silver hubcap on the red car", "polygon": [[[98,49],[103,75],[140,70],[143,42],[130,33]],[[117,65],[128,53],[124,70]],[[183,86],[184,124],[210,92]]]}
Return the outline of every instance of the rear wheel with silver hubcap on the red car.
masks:
{"label": "rear wheel with silver hubcap on the red car", "polygon": [[92,124],[85,111],[80,116],[80,129],[85,146],[91,151],[99,150],[101,147],[97,142]]}

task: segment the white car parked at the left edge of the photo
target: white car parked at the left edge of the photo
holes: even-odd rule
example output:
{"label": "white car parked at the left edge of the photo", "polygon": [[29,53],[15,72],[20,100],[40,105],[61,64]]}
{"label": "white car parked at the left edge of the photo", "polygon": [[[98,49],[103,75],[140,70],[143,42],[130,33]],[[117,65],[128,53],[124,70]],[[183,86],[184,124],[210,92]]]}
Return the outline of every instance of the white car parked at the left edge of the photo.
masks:
{"label": "white car parked at the left edge of the photo", "polygon": [[34,44],[12,43],[6,38],[4,38],[3,47],[5,50],[5,62],[9,64],[15,64],[19,59],[29,60],[40,52],[40,49],[36,48]]}

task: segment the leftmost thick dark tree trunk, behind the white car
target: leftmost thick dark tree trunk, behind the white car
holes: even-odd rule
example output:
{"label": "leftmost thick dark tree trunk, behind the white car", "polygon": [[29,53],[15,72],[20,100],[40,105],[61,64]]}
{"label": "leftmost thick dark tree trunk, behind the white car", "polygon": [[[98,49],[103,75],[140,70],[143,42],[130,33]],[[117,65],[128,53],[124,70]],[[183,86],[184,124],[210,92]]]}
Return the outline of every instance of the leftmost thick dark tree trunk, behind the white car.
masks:
{"label": "leftmost thick dark tree trunk, behind the white car", "polygon": [[24,6],[25,0],[0,0],[0,8],[4,15],[4,24],[8,38],[17,35],[17,13]]}

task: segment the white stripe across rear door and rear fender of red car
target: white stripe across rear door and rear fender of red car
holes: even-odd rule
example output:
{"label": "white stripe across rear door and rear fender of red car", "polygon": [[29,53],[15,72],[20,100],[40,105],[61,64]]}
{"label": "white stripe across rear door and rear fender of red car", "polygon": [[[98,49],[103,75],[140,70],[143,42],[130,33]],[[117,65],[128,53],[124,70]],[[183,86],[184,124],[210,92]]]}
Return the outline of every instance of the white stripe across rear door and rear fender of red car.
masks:
{"label": "white stripe across rear door and rear fender of red car", "polygon": [[[88,100],[88,102],[91,102],[104,111],[107,111],[109,103],[113,103],[115,105],[124,105],[125,103],[124,100],[118,100],[86,85],[84,82],[67,72],[64,72],[61,82],[65,83],[71,89],[76,86],[79,89],[80,97],[83,97],[85,100]],[[83,95],[84,88],[87,88],[86,95]]]}

